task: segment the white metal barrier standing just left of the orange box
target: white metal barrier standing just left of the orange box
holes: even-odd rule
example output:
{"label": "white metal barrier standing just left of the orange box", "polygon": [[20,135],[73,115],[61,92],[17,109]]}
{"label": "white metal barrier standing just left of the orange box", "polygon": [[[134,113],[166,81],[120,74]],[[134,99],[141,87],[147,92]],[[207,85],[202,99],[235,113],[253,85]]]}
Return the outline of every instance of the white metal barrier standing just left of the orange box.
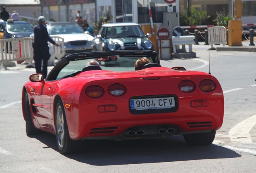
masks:
{"label": "white metal barrier standing just left of the orange box", "polygon": [[227,42],[227,31],[224,26],[208,27],[209,44],[211,49],[216,49],[213,44],[222,44],[225,46]]}

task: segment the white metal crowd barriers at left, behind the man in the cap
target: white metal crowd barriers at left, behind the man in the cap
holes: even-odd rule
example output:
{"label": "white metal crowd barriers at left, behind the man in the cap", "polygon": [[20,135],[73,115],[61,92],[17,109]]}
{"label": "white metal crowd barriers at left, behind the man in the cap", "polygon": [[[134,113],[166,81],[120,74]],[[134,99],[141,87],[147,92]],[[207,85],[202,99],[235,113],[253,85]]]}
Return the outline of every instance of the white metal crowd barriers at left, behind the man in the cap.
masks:
{"label": "white metal crowd barriers at left, behind the man in the cap", "polygon": [[[55,57],[60,60],[65,55],[64,40],[61,37],[52,37],[61,46],[57,47],[53,44],[49,45],[51,58]],[[33,65],[33,38],[8,38],[0,40],[0,68],[6,68],[6,62],[25,61],[28,66]],[[52,64],[53,65],[53,64]]]}

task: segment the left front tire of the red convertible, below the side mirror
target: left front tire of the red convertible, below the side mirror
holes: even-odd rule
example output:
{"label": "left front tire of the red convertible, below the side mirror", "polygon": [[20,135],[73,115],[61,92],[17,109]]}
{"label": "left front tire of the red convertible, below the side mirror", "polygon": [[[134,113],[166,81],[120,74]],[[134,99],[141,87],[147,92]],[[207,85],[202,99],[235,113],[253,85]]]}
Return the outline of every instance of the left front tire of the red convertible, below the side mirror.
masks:
{"label": "left front tire of the red convertible, below the side mirror", "polygon": [[25,103],[26,133],[27,135],[37,135],[40,133],[40,130],[36,129],[35,126],[33,125],[33,121],[31,118],[31,110],[29,106],[29,98],[26,91],[24,95],[24,103]]}

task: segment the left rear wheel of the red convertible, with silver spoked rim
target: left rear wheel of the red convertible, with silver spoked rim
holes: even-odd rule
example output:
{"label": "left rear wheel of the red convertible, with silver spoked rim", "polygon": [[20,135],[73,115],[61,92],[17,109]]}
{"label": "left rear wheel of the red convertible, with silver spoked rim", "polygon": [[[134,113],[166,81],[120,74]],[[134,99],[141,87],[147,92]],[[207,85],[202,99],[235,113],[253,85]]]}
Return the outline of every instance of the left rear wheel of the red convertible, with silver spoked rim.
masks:
{"label": "left rear wheel of the red convertible, with silver spoked rim", "polygon": [[70,138],[68,133],[68,125],[66,121],[66,114],[61,101],[58,101],[55,110],[56,122],[56,140],[57,145],[62,154],[78,153],[82,150],[83,141],[74,141]]}

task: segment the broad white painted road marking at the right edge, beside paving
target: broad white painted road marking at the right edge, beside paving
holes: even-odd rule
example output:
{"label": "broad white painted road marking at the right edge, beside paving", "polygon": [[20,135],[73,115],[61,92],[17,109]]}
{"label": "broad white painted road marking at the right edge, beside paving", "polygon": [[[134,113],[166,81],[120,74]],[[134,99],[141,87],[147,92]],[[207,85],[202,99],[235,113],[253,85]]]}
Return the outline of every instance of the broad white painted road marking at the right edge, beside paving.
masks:
{"label": "broad white painted road marking at the right edge, beside paving", "polygon": [[256,123],[256,115],[241,121],[229,131],[229,137],[232,143],[253,143],[250,130]]}

